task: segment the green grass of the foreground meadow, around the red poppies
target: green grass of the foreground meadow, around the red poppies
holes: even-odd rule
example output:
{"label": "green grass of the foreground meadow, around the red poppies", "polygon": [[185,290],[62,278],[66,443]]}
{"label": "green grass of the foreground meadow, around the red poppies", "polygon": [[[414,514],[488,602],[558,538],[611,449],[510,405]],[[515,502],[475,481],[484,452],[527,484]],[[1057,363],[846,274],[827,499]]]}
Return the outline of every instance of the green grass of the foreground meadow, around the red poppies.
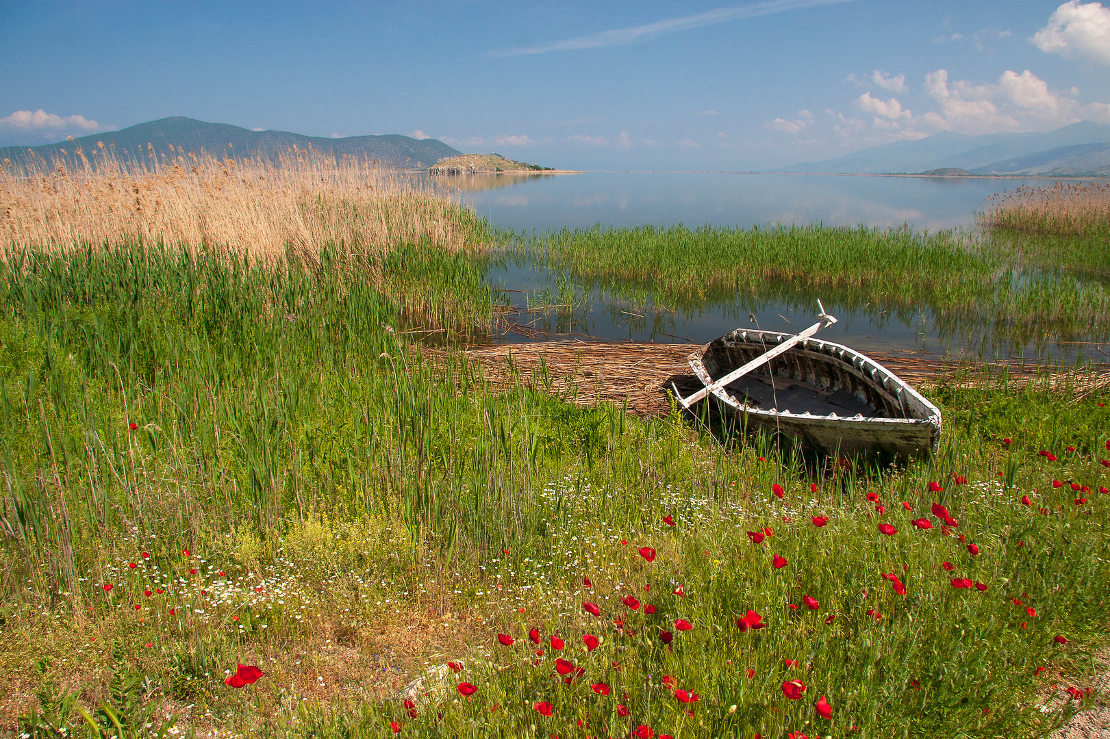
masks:
{"label": "green grass of the foreground meadow, around the red poppies", "polygon": [[[397,284],[481,305],[471,273],[420,245],[397,254]],[[424,360],[401,311],[339,249],[261,264],[127,243],[0,264],[0,675],[10,695],[59,686],[20,712],[46,720],[72,689],[89,709],[138,700],[198,730],[283,736],[389,736],[391,720],[418,736],[564,736],[582,719],[593,736],[1031,737],[1074,707],[1040,710],[1048,685],[1086,685],[1106,640],[1106,391],[1077,405],[1048,385],[952,383],[929,391],[948,419],[936,458],[814,467],[766,442],[723,446],[677,415],[564,403],[543,374],[494,393],[465,355]],[[950,536],[935,518],[909,525],[934,502],[959,519]],[[818,611],[788,608],[803,595]],[[749,608],[767,629],[738,632]],[[676,618],[695,628],[668,650],[658,634]],[[398,625],[422,620],[461,632],[398,656]],[[531,627],[561,635],[585,675],[553,678]],[[29,685],[14,666],[32,657],[47,664]],[[398,689],[447,660],[463,671],[426,678],[412,718]],[[229,688],[236,661],[266,675]],[[664,675],[700,700],[679,705]],[[796,677],[809,690],[788,701]],[[462,680],[478,687],[470,700]],[[815,718],[820,695],[831,722]]]}

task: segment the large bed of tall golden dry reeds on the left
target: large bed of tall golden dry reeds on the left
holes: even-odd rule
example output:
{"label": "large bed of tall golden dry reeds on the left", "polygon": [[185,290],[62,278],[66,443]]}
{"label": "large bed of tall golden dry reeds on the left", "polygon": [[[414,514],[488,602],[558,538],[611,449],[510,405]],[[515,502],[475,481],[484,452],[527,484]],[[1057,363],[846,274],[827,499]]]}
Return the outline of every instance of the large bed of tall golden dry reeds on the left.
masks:
{"label": "large bed of tall golden dry reeds on the left", "polygon": [[47,161],[0,162],[0,254],[79,244],[202,244],[274,261],[329,242],[374,256],[405,243],[482,247],[473,213],[374,162],[290,149],[272,159],[196,155],[178,146],[144,160],[75,142]]}

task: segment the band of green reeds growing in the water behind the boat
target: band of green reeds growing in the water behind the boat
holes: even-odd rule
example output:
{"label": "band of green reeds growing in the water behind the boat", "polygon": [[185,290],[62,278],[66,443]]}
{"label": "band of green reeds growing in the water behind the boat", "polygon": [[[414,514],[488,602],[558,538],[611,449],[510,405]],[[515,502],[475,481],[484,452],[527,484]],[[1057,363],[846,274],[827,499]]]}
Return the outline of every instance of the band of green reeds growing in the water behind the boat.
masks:
{"label": "band of green reeds growing in the water behind the boat", "polygon": [[[941,340],[998,345],[1110,335],[1104,243],[1008,239],[908,227],[595,226],[517,237],[513,256],[608,294],[682,311],[815,304],[931,314]],[[740,316],[746,317],[746,316]]]}

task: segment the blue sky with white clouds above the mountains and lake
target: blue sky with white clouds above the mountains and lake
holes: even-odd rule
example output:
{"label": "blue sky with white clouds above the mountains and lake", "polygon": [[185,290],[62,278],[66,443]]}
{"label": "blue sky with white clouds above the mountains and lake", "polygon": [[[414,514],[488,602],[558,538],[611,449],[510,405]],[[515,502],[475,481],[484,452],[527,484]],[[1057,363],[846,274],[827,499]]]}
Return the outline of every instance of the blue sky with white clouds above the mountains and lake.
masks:
{"label": "blue sky with white clouds above the mountains and lake", "polygon": [[167,115],[576,169],[1110,122],[1110,3],[11,2],[0,144]]}

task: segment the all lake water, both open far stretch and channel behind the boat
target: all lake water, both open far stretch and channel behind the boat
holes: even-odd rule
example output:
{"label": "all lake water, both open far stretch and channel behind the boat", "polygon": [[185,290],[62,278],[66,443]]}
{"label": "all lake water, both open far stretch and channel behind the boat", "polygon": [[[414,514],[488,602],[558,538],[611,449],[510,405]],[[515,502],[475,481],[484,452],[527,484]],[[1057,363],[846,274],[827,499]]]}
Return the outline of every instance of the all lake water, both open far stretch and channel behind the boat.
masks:
{"label": "all lake water, both open far stretch and channel behind the boat", "polygon": [[[463,201],[492,223],[532,233],[563,227],[767,224],[866,225],[880,229],[908,224],[918,231],[975,227],[985,200],[1021,185],[1050,184],[1043,179],[841,176],[709,172],[585,172],[537,176],[452,178]],[[492,269],[491,284],[517,312],[511,321],[524,327],[501,332],[500,342],[556,340],[569,336],[675,342],[708,342],[740,326],[749,314],[768,330],[800,331],[814,323],[813,296],[800,286],[795,298],[706,303],[697,310],[670,311],[635,305],[599,284],[575,284],[568,275],[533,264]],[[572,308],[527,312],[529,304],[564,303]],[[1104,336],[1042,336],[1028,342],[999,336],[989,326],[952,330],[927,310],[891,315],[882,305],[849,310],[831,296],[826,308],[840,322],[821,332],[828,341],[861,351],[914,351],[929,354],[978,354],[1076,358],[1110,356],[1110,346],[1074,344]],[[533,333],[534,332],[534,333]],[[1060,341],[1060,340],[1063,341]],[[1102,354],[1100,354],[1102,353]]]}

